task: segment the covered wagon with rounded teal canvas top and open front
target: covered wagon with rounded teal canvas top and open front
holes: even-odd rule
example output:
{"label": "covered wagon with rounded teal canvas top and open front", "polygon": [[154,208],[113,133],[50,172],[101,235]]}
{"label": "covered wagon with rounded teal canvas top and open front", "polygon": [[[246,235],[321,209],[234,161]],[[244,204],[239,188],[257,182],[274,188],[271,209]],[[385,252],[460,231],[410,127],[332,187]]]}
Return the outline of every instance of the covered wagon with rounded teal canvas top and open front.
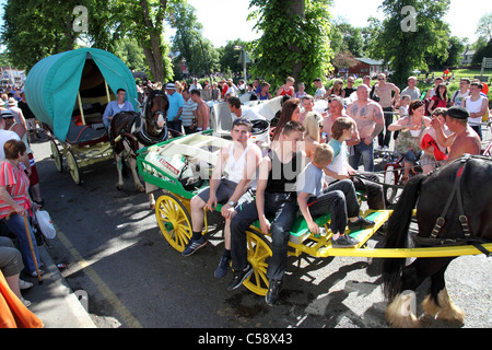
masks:
{"label": "covered wagon with rounded teal canvas top and open front", "polygon": [[115,55],[81,48],[37,62],[25,82],[27,103],[50,137],[58,172],[67,168],[75,184],[87,165],[113,160],[113,148],[102,118],[105,106],[125,89],[137,110],[132,73]]}

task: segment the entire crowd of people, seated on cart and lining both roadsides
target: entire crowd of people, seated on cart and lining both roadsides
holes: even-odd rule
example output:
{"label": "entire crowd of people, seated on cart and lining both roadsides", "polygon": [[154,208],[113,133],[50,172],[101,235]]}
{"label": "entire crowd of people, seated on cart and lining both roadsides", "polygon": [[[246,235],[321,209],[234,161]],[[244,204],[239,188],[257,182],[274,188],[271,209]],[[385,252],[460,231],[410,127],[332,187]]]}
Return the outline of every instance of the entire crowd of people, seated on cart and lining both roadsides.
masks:
{"label": "entire crowd of people, seated on cart and lining both roadsides", "polygon": [[[453,96],[442,78],[435,79],[435,86],[425,96],[414,77],[408,79],[402,91],[387,82],[383,73],[373,86],[370,77],[363,77],[356,88],[354,82],[349,77],[343,86],[343,80],[337,79],[327,90],[321,79],[315,79],[316,92],[309,95],[305,83],[298,83],[296,91],[294,79],[289,77],[274,93],[284,100],[268,150],[250,141],[251,120],[262,117],[239,100],[239,94],[248,95],[248,100],[272,98],[268,82],[255,79],[251,84],[239,81],[235,85],[232,80],[223,80],[201,85],[195,79],[189,85],[175,82],[154,86],[166,92],[167,125],[180,133],[211,128],[208,101],[227,102],[234,119],[233,142],[222,149],[210,187],[191,199],[192,237],[183,255],[189,256],[207,244],[202,235],[203,208],[214,210],[221,203],[225,244],[215,277],[224,277],[232,262],[234,273],[229,289],[236,289],[253,272],[247,261],[246,231],[258,220],[261,231],[272,237],[266,300],[274,305],[286,270],[290,229],[297,212],[315,235],[321,231],[316,218],[330,212],[335,247],[353,247],[359,242],[345,232],[375,224],[360,217],[355,190],[365,191],[368,208],[386,208],[383,186],[374,174],[374,154],[376,148],[389,149],[391,133],[394,151],[405,158],[403,183],[417,162],[429,173],[465,153],[480,153],[480,124],[489,114],[480,81],[461,79]],[[145,95],[143,88],[138,85],[141,97]],[[27,245],[23,220],[44,205],[30,147],[37,139],[36,119],[21,91],[2,95],[2,100],[0,224],[14,235],[17,245],[8,238],[0,241],[0,268],[14,294],[30,305],[21,290],[33,284],[21,280],[20,273],[36,276],[35,262],[43,266],[36,246],[32,254]],[[323,113],[314,110],[318,100],[328,102]],[[118,90],[117,101],[106,107],[105,126],[121,108],[132,108],[126,105],[125,90]],[[361,163],[363,172],[359,171]],[[353,176],[358,173],[364,176]],[[35,241],[31,224],[28,230]]]}

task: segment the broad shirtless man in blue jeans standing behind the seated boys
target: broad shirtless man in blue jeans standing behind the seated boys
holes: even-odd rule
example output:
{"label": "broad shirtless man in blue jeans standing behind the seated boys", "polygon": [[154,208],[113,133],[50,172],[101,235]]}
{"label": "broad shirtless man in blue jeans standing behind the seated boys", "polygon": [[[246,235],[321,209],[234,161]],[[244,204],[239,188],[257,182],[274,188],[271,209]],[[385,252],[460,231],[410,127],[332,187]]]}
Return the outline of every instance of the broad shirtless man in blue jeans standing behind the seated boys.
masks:
{"label": "broad shirtless man in blue jeans standing behind the seated boys", "polygon": [[385,127],[383,108],[377,102],[368,100],[370,88],[367,85],[359,85],[356,94],[358,100],[347,107],[347,114],[355,120],[360,142],[353,145],[349,164],[358,170],[362,156],[364,171],[374,172],[374,139]]}

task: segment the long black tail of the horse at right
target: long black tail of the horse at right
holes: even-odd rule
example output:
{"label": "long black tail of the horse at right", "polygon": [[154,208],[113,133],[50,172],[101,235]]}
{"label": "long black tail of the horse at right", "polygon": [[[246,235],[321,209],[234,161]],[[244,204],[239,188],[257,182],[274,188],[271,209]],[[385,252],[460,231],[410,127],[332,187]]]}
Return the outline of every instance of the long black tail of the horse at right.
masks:
{"label": "long black tail of the horse at right", "polygon": [[[419,198],[422,182],[425,175],[413,176],[405,186],[400,199],[395,206],[388,221],[386,234],[386,248],[406,248],[408,246],[408,229]],[[383,259],[383,291],[387,300],[391,301],[401,289],[401,272],[405,268],[405,258]]]}

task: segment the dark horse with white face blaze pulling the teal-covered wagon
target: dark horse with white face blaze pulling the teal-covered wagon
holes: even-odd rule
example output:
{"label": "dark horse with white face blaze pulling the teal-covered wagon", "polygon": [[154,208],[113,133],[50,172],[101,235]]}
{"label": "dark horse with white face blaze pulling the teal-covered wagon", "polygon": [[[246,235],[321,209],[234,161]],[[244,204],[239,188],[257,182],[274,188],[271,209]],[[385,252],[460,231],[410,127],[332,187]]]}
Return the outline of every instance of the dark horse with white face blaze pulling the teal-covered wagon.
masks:
{"label": "dark horse with white face blaze pulling the teal-covered wagon", "polygon": [[[108,135],[118,170],[118,189],[122,189],[124,185],[121,170],[122,153],[126,151],[134,186],[140,191],[145,190],[137,174],[136,152],[142,147],[149,147],[166,140],[168,108],[169,101],[166,94],[161,90],[150,90],[141,114],[137,112],[120,112],[113,117]],[[148,192],[152,207],[154,203],[153,194],[150,190]]]}

